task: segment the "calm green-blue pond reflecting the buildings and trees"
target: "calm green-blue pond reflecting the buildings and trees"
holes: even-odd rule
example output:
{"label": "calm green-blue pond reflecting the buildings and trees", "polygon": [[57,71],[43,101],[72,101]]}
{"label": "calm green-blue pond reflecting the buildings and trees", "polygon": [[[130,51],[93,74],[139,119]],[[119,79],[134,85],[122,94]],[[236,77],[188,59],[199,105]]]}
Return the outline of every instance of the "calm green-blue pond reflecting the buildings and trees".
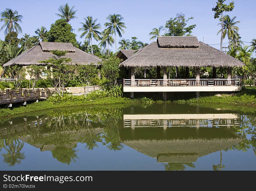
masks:
{"label": "calm green-blue pond reflecting the buildings and trees", "polygon": [[0,123],[0,170],[256,170],[256,114],[168,103]]}

